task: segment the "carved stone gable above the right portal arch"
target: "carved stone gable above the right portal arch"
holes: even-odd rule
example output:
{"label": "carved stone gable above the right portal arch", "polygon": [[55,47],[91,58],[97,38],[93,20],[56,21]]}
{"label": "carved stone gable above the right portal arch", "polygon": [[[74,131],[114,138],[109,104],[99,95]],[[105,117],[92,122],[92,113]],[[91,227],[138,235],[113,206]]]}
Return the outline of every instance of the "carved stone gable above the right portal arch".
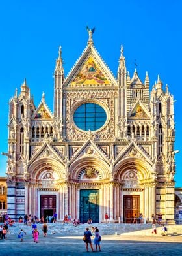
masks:
{"label": "carved stone gable above the right portal arch", "polygon": [[150,165],[152,165],[152,161],[151,159],[149,159],[148,153],[145,152],[144,149],[142,150],[142,148],[139,148],[135,142],[131,142],[129,146],[127,146],[125,150],[123,150],[120,153],[120,155],[118,155],[118,158],[116,159],[116,163],[118,163],[118,161],[120,161],[121,159],[125,159],[127,157],[136,157],[139,159],[145,159],[146,161],[148,161]]}

